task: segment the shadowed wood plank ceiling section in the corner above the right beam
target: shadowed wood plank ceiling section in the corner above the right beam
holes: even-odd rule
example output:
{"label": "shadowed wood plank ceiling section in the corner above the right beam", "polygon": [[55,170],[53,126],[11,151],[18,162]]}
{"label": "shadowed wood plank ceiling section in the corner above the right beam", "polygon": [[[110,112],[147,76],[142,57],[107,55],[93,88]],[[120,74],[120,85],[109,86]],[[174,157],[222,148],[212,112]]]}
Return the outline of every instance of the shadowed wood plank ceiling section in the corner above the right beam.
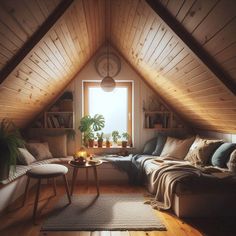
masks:
{"label": "shadowed wood plank ceiling section in the corner above the right beam", "polygon": [[[236,83],[236,1],[159,1]],[[175,7],[173,7],[173,5]]]}

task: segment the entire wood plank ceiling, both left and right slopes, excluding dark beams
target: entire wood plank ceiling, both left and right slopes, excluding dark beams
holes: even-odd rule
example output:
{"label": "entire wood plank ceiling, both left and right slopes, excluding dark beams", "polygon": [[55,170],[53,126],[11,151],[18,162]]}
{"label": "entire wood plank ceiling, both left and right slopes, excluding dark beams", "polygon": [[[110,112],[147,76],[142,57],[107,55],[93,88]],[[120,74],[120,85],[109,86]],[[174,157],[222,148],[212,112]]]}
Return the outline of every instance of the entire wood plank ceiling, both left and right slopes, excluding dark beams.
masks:
{"label": "entire wood plank ceiling, both left and right slopes, excluding dark beams", "polygon": [[[156,1],[235,82],[235,1]],[[59,3],[16,2],[0,4],[1,68]],[[110,0],[110,4],[111,43],[157,93],[193,126],[236,133],[235,94],[222,78],[144,0]],[[0,85],[0,119],[8,116],[23,126],[42,111],[104,43],[104,15],[105,0],[74,1]]]}

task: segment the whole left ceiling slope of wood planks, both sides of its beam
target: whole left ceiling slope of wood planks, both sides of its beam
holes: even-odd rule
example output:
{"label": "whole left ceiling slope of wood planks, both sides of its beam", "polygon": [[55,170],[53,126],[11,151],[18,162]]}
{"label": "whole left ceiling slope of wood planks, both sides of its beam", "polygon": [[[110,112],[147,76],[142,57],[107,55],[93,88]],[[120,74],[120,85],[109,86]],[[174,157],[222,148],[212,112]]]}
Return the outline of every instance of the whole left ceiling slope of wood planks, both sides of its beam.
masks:
{"label": "whole left ceiling slope of wood planks, both sides of its beam", "polygon": [[[5,9],[9,2],[14,2],[14,10],[13,5]],[[104,0],[72,3],[63,17],[1,83],[0,120],[8,117],[23,127],[73,79],[105,40],[104,3]],[[57,1],[6,0],[4,4],[6,6],[1,8],[0,14],[1,66],[37,29],[40,23],[36,24],[36,21],[43,21],[49,14],[49,7],[53,10]],[[4,49],[8,50],[9,57],[3,57]]]}

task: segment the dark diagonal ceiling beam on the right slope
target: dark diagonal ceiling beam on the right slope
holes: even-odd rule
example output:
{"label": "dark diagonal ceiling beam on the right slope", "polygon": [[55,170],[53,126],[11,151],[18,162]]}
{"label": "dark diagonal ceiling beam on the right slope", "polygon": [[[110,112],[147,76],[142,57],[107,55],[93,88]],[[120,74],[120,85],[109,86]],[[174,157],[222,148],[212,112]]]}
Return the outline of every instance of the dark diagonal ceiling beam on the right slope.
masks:
{"label": "dark diagonal ceiling beam on the right slope", "polygon": [[213,74],[233,93],[236,94],[236,83],[231,76],[223,70],[204,48],[187,32],[157,0],[146,0],[150,7],[172,29],[172,31],[192,50],[192,52],[211,70]]}

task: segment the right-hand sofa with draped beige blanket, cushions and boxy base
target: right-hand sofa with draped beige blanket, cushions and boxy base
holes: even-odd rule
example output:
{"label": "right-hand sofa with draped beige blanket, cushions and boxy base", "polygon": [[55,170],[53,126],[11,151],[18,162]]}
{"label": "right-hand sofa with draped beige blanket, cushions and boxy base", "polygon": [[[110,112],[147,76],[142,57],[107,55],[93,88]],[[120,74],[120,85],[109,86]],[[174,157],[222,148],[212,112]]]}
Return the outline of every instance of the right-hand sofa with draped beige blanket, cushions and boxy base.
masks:
{"label": "right-hand sofa with draped beige blanket, cushions and boxy base", "polygon": [[[172,186],[171,209],[179,217],[236,215],[236,173],[235,169],[229,169],[230,165],[235,167],[236,144],[200,137],[196,137],[189,146],[186,141],[176,138],[167,137],[165,142],[159,155],[154,151],[154,155],[147,153],[146,148],[144,155],[135,157],[136,166],[156,202],[162,202],[169,186]],[[181,145],[185,150],[180,150]],[[188,168],[185,172],[186,165],[190,166],[190,170]],[[187,176],[187,172],[191,173]],[[163,196],[160,191],[164,192]]]}

